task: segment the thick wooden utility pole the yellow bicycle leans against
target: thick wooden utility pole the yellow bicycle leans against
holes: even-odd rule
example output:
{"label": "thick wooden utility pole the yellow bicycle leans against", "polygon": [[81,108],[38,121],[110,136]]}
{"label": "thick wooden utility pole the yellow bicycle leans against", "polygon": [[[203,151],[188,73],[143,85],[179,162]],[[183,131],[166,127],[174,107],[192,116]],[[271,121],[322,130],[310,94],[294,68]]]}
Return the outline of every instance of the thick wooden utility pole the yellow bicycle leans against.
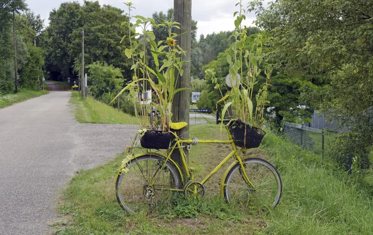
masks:
{"label": "thick wooden utility pole the yellow bicycle leans against", "polygon": [[[174,28],[174,33],[182,34],[185,31],[188,33],[175,38],[176,44],[187,52],[186,58],[182,55],[182,60],[191,60],[191,20],[192,20],[192,0],[174,0],[174,21],[180,23],[180,29]],[[176,89],[181,87],[191,87],[191,65],[185,63],[183,65],[184,73],[179,77],[176,83]],[[177,131],[177,135],[182,138],[189,138],[189,104],[190,104],[190,89],[182,90],[176,93],[172,103],[172,122],[186,122],[188,126]],[[184,149],[188,155],[188,150]],[[185,169],[183,168],[179,151],[174,151],[171,158],[178,163],[186,180]],[[187,159],[188,160],[188,159]],[[184,182],[186,183],[186,182]]]}

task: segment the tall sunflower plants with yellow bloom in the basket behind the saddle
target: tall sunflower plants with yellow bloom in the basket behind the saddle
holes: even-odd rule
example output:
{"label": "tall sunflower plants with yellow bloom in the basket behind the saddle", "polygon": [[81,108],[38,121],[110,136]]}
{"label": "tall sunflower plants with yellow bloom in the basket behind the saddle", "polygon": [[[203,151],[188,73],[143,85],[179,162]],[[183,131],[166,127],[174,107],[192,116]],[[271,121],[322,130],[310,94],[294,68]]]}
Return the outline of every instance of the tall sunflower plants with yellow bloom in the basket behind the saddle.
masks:
{"label": "tall sunflower plants with yellow bloom in the basket behind the saddle", "polygon": [[[173,33],[173,28],[179,28],[179,23],[175,21],[164,20],[162,23],[156,24],[152,18],[143,16],[131,16],[131,11],[134,9],[132,3],[125,3],[128,7],[128,17],[136,19],[136,23],[131,25],[128,22],[123,22],[122,25],[128,24],[128,34],[123,36],[129,38],[130,48],[125,49],[125,55],[132,60],[131,70],[133,71],[132,81],[124,87],[118,95],[118,98],[124,91],[129,91],[129,100],[133,103],[140,103],[140,110],[135,110],[135,115],[139,121],[141,128],[152,128],[152,120],[149,119],[148,113],[151,112],[151,106],[155,106],[155,111],[159,113],[158,125],[161,131],[169,131],[171,124],[171,105],[175,93],[186,88],[176,89],[176,83],[183,74],[182,66],[188,61],[183,61],[186,58],[186,52],[179,45],[176,45],[175,37],[178,35]],[[168,29],[168,37],[165,40],[155,42],[155,35],[150,31],[150,27],[166,27]],[[141,29],[141,33],[136,33],[136,28]],[[135,40],[137,38],[137,40]],[[155,63],[155,69],[148,65],[148,50],[150,49],[151,57]],[[162,56],[162,61],[159,57]],[[157,79],[155,79],[157,78]],[[155,82],[157,80],[157,82]],[[139,93],[152,90],[152,103],[142,102],[138,96]],[[136,106],[135,106],[136,107]]]}

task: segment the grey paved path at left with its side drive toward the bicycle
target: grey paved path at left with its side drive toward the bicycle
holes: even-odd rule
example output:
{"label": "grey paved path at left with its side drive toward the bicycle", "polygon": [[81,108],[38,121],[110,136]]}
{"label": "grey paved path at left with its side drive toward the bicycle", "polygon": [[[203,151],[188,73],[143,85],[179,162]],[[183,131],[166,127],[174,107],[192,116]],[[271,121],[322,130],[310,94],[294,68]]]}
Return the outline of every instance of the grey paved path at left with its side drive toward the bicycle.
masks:
{"label": "grey paved path at left with its side drive toward the bicycle", "polygon": [[136,126],[79,124],[70,92],[0,109],[0,234],[46,234],[53,199],[79,169],[123,152]]}

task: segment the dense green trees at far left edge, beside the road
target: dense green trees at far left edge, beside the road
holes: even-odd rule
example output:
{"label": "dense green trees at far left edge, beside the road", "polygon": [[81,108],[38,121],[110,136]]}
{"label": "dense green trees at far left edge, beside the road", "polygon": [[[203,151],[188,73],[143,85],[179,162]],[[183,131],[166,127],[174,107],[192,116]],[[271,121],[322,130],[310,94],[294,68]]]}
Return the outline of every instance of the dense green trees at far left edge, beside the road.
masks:
{"label": "dense green trees at far left edge, beside the road", "polygon": [[28,11],[24,0],[0,3],[0,94],[17,92],[18,86],[37,89],[44,52],[35,39],[42,27],[40,16]]}

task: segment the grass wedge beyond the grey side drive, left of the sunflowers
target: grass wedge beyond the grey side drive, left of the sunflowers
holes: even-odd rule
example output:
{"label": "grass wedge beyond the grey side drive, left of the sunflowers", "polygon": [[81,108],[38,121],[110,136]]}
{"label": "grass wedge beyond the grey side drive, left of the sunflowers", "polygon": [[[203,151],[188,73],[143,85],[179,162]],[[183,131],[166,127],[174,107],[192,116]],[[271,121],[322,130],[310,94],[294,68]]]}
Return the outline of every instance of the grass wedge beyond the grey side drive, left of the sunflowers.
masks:
{"label": "grass wedge beyond the grey side drive, left of the sunflowers", "polygon": [[136,117],[119,111],[100,101],[93,100],[90,96],[82,99],[80,92],[73,91],[71,103],[76,105],[75,117],[80,123],[127,124],[136,125]]}

